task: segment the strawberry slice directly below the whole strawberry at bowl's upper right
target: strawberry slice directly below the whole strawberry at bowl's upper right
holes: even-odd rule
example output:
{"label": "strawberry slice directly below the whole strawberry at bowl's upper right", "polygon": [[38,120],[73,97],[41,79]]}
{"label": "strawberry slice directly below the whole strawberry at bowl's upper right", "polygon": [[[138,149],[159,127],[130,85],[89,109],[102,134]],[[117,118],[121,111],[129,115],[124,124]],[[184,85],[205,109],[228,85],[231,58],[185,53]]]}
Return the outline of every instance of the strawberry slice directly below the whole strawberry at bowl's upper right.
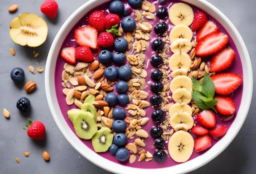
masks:
{"label": "strawberry slice directly below the whole strawberry at bowl's upper right", "polygon": [[211,21],[207,21],[206,23],[203,24],[201,29],[198,31],[196,35],[196,40],[199,41],[202,39],[204,36],[209,35],[212,32],[216,32],[219,29],[217,28],[217,25]]}

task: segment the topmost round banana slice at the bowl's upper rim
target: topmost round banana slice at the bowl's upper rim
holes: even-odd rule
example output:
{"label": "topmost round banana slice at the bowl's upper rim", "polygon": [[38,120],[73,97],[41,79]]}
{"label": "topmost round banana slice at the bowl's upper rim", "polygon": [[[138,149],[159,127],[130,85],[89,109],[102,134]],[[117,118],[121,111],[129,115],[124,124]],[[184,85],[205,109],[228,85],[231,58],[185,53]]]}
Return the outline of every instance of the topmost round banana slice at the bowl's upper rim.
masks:
{"label": "topmost round banana slice at the bowl's upper rim", "polygon": [[176,3],[171,6],[169,19],[174,25],[191,25],[194,19],[192,8],[186,3]]}

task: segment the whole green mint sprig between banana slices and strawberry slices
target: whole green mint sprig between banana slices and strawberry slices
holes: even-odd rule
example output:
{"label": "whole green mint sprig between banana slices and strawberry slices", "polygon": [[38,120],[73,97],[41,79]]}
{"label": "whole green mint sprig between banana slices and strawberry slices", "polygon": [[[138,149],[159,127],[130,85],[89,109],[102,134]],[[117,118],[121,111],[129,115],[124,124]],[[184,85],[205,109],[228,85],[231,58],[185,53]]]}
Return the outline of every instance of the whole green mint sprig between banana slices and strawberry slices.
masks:
{"label": "whole green mint sprig between banana slices and strawberry slices", "polygon": [[192,77],[193,92],[192,98],[194,103],[203,110],[213,109],[216,112],[215,105],[218,100],[214,98],[215,85],[211,78],[206,74],[204,75],[202,84]]}

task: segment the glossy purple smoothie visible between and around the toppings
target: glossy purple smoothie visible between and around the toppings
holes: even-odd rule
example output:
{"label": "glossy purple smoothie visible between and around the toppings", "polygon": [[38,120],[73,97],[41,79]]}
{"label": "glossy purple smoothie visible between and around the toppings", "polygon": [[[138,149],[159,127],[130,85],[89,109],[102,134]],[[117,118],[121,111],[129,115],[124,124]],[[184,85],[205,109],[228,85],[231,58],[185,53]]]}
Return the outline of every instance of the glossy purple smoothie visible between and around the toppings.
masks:
{"label": "glossy purple smoothie visible between and around the toppings", "polygon": [[[124,2],[124,5],[126,7],[129,7],[127,1],[122,1]],[[151,0],[149,0],[149,2],[153,2]],[[156,3],[157,1],[154,1],[154,4],[156,6],[156,9],[158,9],[159,6],[159,3]],[[173,0],[173,1],[169,1],[167,2],[166,5],[161,5],[162,7],[167,7],[168,10],[169,8],[174,4],[174,3],[177,3],[177,2],[181,2],[181,1],[176,1],[176,0]],[[107,3],[104,3],[102,4],[101,6],[97,7],[97,9],[104,9],[106,14],[108,14],[108,4],[109,2]],[[197,11],[202,11],[201,9],[189,4],[193,11],[194,11],[194,14],[197,12]],[[89,13],[88,13],[89,14]],[[86,14],[84,17],[81,18],[81,20],[73,27],[73,29],[69,32],[69,34],[67,35],[65,41],[63,42],[62,44],[62,47],[60,49],[60,52],[62,50],[62,48],[64,47],[78,47],[79,45],[76,43],[76,41],[74,40],[74,30],[77,28],[77,27],[81,27],[83,25],[87,25],[88,22],[87,22],[87,16],[88,14]],[[135,15],[134,15],[134,12],[132,12],[130,14],[130,16],[134,17],[135,18]],[[146,19],[146,18],[145,18]],[[224,29],[224,27],[218,23],[213,17],[211,17],[210,15],[208,15],[208,20],[210,21],[213,21],[217,27],[219,28],[220,32],[224,32],[225,34],[228,35],[229,37],[229,43],[227,46],[230,46],[236,53],[236,57],[231,65],[231,67],[225,71],[227,72],[230,72],[230,73],[236,73],[240,76],[243,76],[243,70],[242,70],[242,62],[241,62],[241,59],[240,59],[240,56],[238,54],[238,51],[237,51],[237,48],[236,48],[236,45],[234,43],[234,41],[232,40],[232,38],[230,37],[230,35],[228,34],[228,32]],[[160,22],[160,21],[164,21],[166,22],[168,25],[169,25],[169,29],[168,29],[168,35],[169,35],[169,32],[171,30],[171,28],[173,28],[174,26],[170,23],[169,21],[169,18],[167,17],[166,20],[159,20],[157,17],[155,20],[153,21],[150,21],[150,20],[145,20],[147,22],[150,22],[151,25],[154,27],[154,25],[157,23],[157,22]],[[153,30],[153,29],[152,29]],[[123,33],[124,34],[124,33]],[[162,38],[162,37],[157,37],[155,36],[155,33],[154,31],[151,31],[151,38],[150,38],[150,41],[148,42],[148,48],[147,50],[144,52],[144,54],[146,54],[146,60],[144,62],[144,64],[147,66],[146,70],[148,72],[148,76],[146,78],[146,89],[144,91],[148,92],[149,93],[149,97],[147,98],[147,101],[149,102],[149,98],[151,96],[151,94],[153,94],[151,91],[150,91],[150,84],[152,83],[152,80],[150,78],[150,73],[153,69],[156,69],[154,68],[153,66],[151,66],[150,64],[150,58],[152,55],[155,55],[156,52],[154,50],[152,50],[151,48],[151,42],[155,39],[155,38]],[[195,35],[195,33],[193,33]],[[169,57],[172,55],[172,53],[170,52],[169,53]],[[97,60],[97,58],[95,58]],[[204,61],[207,61],[204,60]],[[62,89],[63,89],[63,86],[62,86],[62,78],[61,78],[61,75],[62,75],[62,71],[63,71],[63,66],[65,64],[65,61],[61,58],[60,56],[60,53],[58,55],[58,59],[56,61],[56,67],[55,67],[55,91],[56,91],[56,97],[57,97],[57,100],[58,100],[58,104],[59,104],[59,107],[60,107],[60,110],[61,110],[61,113],[64,117],[64,119],[66,120],[68,126],[70,127],[70,129],[72,129],[72,131],[74,132],[75,134],[75,130],[74,130],[74,126],[72,124],[72,122],[68,119],[68,115],[67,115],[67,111],[69,109],[72,109],[72,108],[77,108],[74,104],[73,105],[67,105],[66,104],[66,96],[62,93]],[[126,61],[124,62],[124,65],[127,64],[129,65],[129,63]],[[109,65],[112,65],[112,64],[109,64]],[[108,65],[107,65],[108,66]],[[116,66],[116,65],[115,65]],[[171,80],[171,78],[170,78]],[[118,79],[117,79],[118,81]],[[218,114],[216,114],[216,125],[225,125],[227,126],[227,128],[229,129],[231,124],[233,123],[235,117],[236,117],[236,114],[238,112],[238,109],[240,107],[240,104],[241,104],[241,99],[242,99],[242,92],[243,92],[243,83],[235,90],[235,95],[232,93],[230,94],[230,97],[232,97],[232,99],[234,100],[234,103],[235,103],[235,106],[236,106],[236,111],[235,111],[235,114],[234,114],[234,117],[231,119],[231,120],[228,120],[228,121],[222,121],[220,119],[220,116]],[[118,94],[116,91],[114,91],[114,93]],[[171,101],[173,102],[173,100]],[[124,108],[124,107],[123,107]],[[155,108],[152,108],[151,106],[147,107],[146,108],[146,117],[148,117],[150,119],[150,121],[143,126],[143,129],[146,130],[148,133],[149,133],[149,130],[152,126],[154,125],[157,125],[156,123],[154,123],[152,120],[151,120],[151,113],[154,111]],[[130,114],[128,114],[126,112],[126,116],[129,116],[131,117]],[[199,123],[196,122],[196,119],[195,119],[195,123],[196,125],[200,125]],[[127,124],[128,125],[128,124]],[[75,134],[76,135],[76,134]],[[191,135],[193,136],[194,139],[196,139],[196,135],[194,135],[193,133],[191,133]],[[137,137],[135,137],[137,138]],[[135,139],[134,138],[134,139]],[[128,143],[133,143],[134,142],[134,139],[128,139]],[[80,140],[87,146],[89,147],[92,151],[94,151],[93,149],[93,146],[92,146],[92,143],[91,143],[91,140],[85,140],[85,139],[81,139]],[[214,138],[211,138],[212,140],[212,146],[215,145],[218,140],[217,139],[214,139]],[[146,147],[144,147],[143,149],[145,149],[146,151],[149,151],[150,153],[154,153],[155,151],[155,147],[153,145],[155,139],[152,138],[150,135],[149,137],[144,141],[145,144],[146,144]],[[168,142],[166,144],[166,148],[167,149],[167,146],[168,146]],[[86,148],[86,147],[85,147]],[[167,149],[168,150],[168,149]],[[202,153],[206,152],[207,150],[205,151],[201,151],[201,152],[195,152],[195,150],[193,151],[193,154],[191,155],[190,159],[194,159],[196,158],[197,156],[200,156]],[[96,152],[95,152],[96,153]],[[139,155],[136,154],[136,161],[133,163],[133,164],[130,164],[129,163],[129,160],[125,161],[125,162],[120,162],[118,161],[115,156],[113,156],[112,154],[110,154],[108,151],[107,152],[103,152],[103,153],[97,153],[99,154],[99,156],[103,157],[103,158],[106,158],[110,161],[113,161],[113,162],[116,162],[118,164],[121,164],[121,165],[125,165],[125,166],[129,166],[129,167],[135,167],[135,168],[164,168],[164,167],[170,167],[170,166],[174,166],[174,165],[177,165],[179,164],[178,162],[175,162],[173,159],[171,159],[171,157],[169,155],[167,155],[167,159],[162,162],[161,164],[160,163],[157,163],[154,159],[149,161],[149,162],[146,162],[146,161],[140,161],[140,162],[137,162],[137,159],[139,159]]]}

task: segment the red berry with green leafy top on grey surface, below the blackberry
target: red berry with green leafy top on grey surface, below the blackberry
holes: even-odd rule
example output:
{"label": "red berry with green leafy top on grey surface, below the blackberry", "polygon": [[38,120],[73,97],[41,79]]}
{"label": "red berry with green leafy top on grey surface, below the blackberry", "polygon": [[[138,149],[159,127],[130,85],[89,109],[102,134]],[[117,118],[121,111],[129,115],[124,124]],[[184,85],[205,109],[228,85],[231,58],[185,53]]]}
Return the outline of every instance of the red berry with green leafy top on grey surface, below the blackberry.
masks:
{"label": "red berry with green leafy top on grey surface, below the blackberry", "polygon": [[[41,121],[32,121],[28,118],[28,124],[26,124],[27,134],[30,138],[36,140],[43,140],[45,139],[45,125]],[[23,128],[26,130],[26,128]]]}

